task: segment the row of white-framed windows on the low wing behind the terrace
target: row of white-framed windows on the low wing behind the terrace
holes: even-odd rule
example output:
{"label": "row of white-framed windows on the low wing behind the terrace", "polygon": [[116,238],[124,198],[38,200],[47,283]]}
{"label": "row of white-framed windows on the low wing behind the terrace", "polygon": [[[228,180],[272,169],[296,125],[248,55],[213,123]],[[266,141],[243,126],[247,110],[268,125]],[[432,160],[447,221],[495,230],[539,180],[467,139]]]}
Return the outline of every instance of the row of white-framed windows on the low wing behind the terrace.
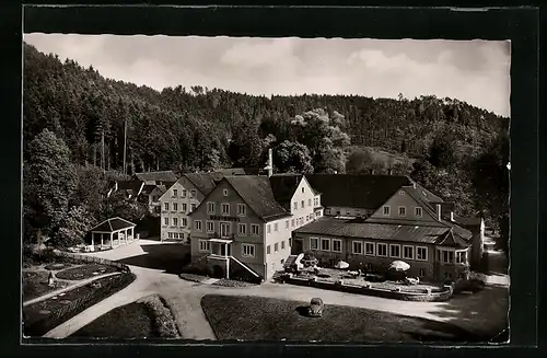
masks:
{"label": "row of white-framed windows on the low wing behind the terrace", "polygon": [[[310,249],[331,252],[342,252],[342,240],[326,238],[310,238]],[[400,244],[386,244],[363,241],[352,241],[351,252],[354,255],[393,257],[427,261],[428,247]]]}

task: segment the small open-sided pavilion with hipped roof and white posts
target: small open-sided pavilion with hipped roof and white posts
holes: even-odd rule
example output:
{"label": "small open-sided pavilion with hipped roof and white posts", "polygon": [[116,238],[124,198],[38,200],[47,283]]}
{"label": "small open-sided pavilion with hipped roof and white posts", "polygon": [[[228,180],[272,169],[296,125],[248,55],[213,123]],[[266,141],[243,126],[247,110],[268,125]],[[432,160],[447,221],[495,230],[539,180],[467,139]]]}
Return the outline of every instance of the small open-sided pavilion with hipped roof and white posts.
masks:
{"label": "small open-sided pavilion with hipped roof and white posts", "polygon": [[[121,218],[112,218],[105,220],[91,229],[91,245],[95,246],[95,239],[101,241],[101,249],[109,246],[110,249],[127,244],[135,240],[136,224]],[[106,240],[105,240],[106,235]]]}

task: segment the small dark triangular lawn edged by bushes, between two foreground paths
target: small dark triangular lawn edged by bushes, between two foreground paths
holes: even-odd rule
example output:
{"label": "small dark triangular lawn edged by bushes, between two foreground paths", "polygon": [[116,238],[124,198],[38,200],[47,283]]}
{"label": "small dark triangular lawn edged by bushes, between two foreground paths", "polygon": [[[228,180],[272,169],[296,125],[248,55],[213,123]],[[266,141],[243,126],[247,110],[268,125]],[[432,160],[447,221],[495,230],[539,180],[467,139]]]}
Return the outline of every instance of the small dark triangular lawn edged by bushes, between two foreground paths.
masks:
{"label": "small dark triangular lawn edged by bushes, between two foreground paths", "polygon": [[116,308],[73,333],[78,338],[177,338],[173,314],[156,295]]}

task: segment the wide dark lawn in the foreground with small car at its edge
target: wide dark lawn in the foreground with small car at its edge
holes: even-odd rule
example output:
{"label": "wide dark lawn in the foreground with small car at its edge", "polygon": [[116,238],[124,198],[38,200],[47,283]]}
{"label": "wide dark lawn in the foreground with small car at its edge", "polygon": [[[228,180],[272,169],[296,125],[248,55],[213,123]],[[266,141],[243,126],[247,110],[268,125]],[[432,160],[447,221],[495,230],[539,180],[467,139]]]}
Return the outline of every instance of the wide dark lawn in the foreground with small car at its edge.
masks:
{"label": "wide dark lawn in the foreground with small car at its edge", "polygon": [[260,297],[207,295],[203,312],[217,338],[292,342],[478,342],[442,322],[361,308],[325,305],[323,317],[307,317],[309,302]]}

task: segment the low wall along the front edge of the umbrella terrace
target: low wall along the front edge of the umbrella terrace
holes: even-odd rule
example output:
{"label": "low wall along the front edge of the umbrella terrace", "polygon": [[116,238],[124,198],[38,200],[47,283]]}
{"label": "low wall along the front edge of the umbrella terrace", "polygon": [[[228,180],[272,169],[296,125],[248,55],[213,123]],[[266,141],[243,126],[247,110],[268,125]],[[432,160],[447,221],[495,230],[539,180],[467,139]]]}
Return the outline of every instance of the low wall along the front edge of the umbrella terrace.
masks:
{"label": "low wall along the front edge of the umbrella terrace", "polygon": [[364,286],[349,285],[349,284],[340,285],[336,282],[319,281],[309,278],[282,277],[281,279],[283,282],[291,285],[309,286],[324,290],[334,290],[348,293],[376,296],[376,297],[401,300],[401,301],[439,302],[439,301],[447,301],[453,296],[452,287],[445,287],[441,289],[439,292],[437,291],[427,292],[426,290],[423,290],[423,292],[405,292],[405,291],[394,291],[394,290],[372,288],[372,287],[368,288]]}

